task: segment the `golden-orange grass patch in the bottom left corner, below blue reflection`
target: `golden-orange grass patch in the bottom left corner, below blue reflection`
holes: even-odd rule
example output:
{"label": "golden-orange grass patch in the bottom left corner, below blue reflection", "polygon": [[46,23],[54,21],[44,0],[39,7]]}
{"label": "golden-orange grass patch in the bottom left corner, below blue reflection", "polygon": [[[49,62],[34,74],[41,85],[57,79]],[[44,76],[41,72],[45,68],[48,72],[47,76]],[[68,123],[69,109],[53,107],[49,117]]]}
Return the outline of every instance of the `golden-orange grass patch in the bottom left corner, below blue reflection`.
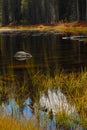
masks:
{"label": "golden-orange grass patch in the bottom left corner, below blue reflection", "polygon": [[38,127],[34,125],[32,119],[23,122],[9,116],[1,116],[0,130],[38,130]]}

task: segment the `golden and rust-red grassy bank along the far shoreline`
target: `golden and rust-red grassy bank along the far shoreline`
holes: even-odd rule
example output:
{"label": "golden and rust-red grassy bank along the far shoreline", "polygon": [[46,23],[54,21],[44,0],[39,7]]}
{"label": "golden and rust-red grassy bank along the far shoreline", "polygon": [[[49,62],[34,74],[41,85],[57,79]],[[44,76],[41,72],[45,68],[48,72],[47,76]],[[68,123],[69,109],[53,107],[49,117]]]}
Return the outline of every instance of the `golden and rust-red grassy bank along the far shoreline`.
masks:
{"label": "golden and rust-red grassy bank along the far shoreline", "polygon": [[8,25],[8,26],[1,26],[1,31],[12,31],[12,30],[37,30],[37,31],[56,31],[56,32],[71,32],[71,33],[87,33],[87,22],[59,22],[56,24],[37,24],[37,25]]}

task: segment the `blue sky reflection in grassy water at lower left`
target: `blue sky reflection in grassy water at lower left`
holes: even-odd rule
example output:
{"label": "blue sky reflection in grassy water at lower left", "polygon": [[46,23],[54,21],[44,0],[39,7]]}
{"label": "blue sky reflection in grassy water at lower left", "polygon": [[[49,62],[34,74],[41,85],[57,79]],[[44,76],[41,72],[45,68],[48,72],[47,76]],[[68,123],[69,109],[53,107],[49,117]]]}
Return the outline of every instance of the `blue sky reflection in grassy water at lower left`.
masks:
{"label": "blue sky reflection in grassy water at lower left", "polygon": [[19,104],[15,101],[14,98],[9,99],[8,103],[2,103],[0,107],[1,113],[4,115],[9,115],[12,117],[16,117],[18,119],[26,119],[28,120],[32,117],[32,109],[29,107],[31,103],[30,98],[26,99],[23,103],[24,107],[21,108]]}

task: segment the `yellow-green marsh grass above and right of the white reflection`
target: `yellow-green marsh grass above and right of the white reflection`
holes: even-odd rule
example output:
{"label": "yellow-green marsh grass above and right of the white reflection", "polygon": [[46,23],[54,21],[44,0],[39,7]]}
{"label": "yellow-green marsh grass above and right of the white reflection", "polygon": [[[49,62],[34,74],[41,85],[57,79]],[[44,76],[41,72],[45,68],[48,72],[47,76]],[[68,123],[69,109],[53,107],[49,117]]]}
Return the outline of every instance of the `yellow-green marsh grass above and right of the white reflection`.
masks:
{"label": "yellow-green marsh grass above and right of the white reflection", "polygon": [[[79,124],[87,128],[87,72],[82,71],[79,73],[65,73],[56,72],[53,76],[49,74],[43,75],[38,73],[33,78],[33,85],[37,86],[38,93],[47,92],[50,89],[58,89],[66,95],[68,102],[71,105],[75,105],[77,113],[79,114]],[[59,118],[60,117],[60,118]],[[64,122],[67,118],[67,122],[71,119],[69,117],[58,115],[58,118]],[[75,121],[75,120],[74,120]],[[66,121],[65,121],[66,122]]]}

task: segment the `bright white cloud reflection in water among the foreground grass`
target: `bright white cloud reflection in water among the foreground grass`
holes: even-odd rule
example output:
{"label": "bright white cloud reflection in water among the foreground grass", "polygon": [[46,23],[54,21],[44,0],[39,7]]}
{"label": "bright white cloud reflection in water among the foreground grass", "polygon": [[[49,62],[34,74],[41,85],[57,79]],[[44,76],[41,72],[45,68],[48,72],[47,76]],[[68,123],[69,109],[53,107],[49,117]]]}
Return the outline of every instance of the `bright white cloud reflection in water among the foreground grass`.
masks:
{"label": "bright white cloud reflection in water among the foreground grass", "polygon": [[47,96],[43,93],[40,97],[40,105],[46,107],[55,115],[58,112],[66,111],[68,115],[76,112],[75,106],[70,106],[65,95],[58,90],[48,90]]}

